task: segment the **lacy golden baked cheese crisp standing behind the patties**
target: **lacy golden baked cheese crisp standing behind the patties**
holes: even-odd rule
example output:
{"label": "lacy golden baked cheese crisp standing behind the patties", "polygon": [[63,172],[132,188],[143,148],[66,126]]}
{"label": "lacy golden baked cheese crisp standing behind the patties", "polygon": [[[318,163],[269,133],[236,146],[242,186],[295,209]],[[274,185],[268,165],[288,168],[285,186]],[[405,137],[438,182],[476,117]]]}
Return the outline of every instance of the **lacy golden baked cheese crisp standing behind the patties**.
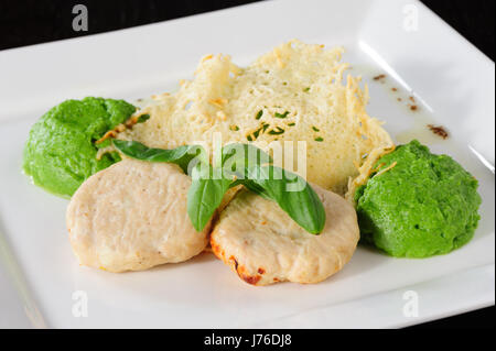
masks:
{"label": "lacy golden baked cheese crisp standing behind the patties", "polygon": [[343,195],[368,154],[392,146],[381,122],[366,112],[367,87],[360,89],[359,77],[344,78],[343,52],[293,40],[246,68],[227,55],[204,56],[193,80],[154,96],[139,111],[150,119],[118,139],[212,147],[219,133],[223,143],[252,142],[266,151],[273,141],[305,141],[306,179]]}

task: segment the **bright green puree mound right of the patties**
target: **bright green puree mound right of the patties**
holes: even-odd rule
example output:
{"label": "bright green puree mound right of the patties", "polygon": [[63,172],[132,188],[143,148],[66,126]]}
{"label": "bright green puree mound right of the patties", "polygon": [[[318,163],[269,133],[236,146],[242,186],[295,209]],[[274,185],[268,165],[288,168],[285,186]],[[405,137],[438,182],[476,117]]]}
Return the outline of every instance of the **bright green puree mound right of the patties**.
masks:
{"label": "bright green puree mound right of the patties", "polygon": [[363,240],[406,257],[444,254],[467,243],[479,220],[477,180],[416,140],[379,158],[376,167],[395,162],[355,193]]}

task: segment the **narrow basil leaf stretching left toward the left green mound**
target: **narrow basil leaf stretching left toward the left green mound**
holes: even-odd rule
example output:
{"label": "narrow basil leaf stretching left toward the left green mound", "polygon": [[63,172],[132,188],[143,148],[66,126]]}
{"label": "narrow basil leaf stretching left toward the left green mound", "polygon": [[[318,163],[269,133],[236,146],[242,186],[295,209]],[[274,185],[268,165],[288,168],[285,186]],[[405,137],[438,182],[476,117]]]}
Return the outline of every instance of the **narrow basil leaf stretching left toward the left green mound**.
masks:
{"label": "narrow basil leaf stretching left toward the left green mound", "polygon": [[151,149],[137,141],[114,140],[114,145],[125,155],[149,162],[169,162],[179,165],[184,173],[188,174],[194,166],[191,162],[198,157],[196,162],[208,160],[205,150],[200,145],[184,145],[172,150]]}

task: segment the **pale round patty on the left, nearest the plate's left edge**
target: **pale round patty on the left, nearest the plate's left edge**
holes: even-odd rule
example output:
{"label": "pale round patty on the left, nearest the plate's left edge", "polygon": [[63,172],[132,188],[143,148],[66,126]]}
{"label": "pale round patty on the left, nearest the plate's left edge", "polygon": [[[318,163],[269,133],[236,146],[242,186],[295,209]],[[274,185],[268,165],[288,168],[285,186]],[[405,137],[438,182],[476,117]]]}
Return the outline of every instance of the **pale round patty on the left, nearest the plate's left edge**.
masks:
{"label": "pale round patty on the left, nearest the plate's left edge", "polygon": [[191,178],[166,163],[123,160],[89,177],[67,208],[79,263],[110,272],[186,261],[208,242],[187,216]]}

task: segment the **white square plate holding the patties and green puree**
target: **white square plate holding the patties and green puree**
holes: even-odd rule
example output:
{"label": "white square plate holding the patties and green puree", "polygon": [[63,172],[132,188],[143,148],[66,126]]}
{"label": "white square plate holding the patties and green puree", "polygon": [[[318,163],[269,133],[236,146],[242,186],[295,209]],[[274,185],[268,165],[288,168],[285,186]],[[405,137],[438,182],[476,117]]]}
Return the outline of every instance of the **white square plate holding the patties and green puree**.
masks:
{"label": "white square plate holding the patties and green puree", "polygon": [[[477,177],[482,220],[472,242],[425,260],[359,248],[342,272],[316,285],[254,287],[206,253],[141,273],[79,267],[67,240],[67,201],[21,174],[36,118],[68,98],[170,91],[204,54],[228,53],[246,65],[293,37],[343,45],[351,73],[369,85],[369,113],[397,141],[420,138]],[[371,79],[379,73],[384,84]],[[420,2],[261,2],[0,52],[0,79],[1,327],[28,326],[23,310],[34,326],[55,328],[400,327],[494,304],[494,63]],[[429,121],[448,128],[450,139],[421,132]],[[87,294],[87,317],[73,315],[75,292]],[[417,316],[408,308],[412,298]]]}

